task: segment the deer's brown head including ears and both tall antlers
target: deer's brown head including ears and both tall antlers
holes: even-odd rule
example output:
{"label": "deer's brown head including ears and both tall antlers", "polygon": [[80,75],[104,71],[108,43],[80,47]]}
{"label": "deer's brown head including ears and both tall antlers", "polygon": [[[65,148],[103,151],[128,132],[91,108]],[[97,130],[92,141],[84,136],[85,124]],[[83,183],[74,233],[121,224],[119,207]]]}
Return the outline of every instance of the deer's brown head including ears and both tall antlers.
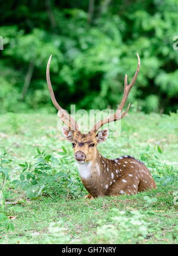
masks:
{"label": "deer's brown head including ears and both tall antlers", "polygon": [[[50,76],[49,76],[49,66],[50,66],[50,60],[52,55],[50,55],[49,61],[47,63],[47,69],[46,69],[46,79],[47,79],[47,85],[49,88],[50,96],[52,99],[53,104],[58,110],[58,116],[61,118],[63,123],[66,124],[67,127],[62,128],[63,135],[65,138],[72,143],[72,147],[74,148],[74,155],[75,159],[78,161],[78,163],[85,163],[88,161],[92,161],[96,157],[96,146],[98,143],[104,142],[107,139],[108,136],[108,129],[100,130],[100,132],[97,132],[104,124],[110,123],[112,121],[117,121],[122,119],[126,113],[128,113],[128,108],[122,113],[123,107],[126,104],[126,100],[128,98],[129,92],[132,88],[132,86],[135,83],[136,77],[138,76],[139,67],[140,67],[140,60],[139,55],[138,57],[138,67],[136,69],[134,78],[132,79],[132,82],[129,83],[127,81],[127,75],[125,75],[125,89],[122,101],[119,105],[119,108],[117,108],[116,113],[112,115],[111,117],[107,117],[101,121],[98,121],[93,129],[90,130],[87,134],[82,134],[78,128],[77,122],[74,120],[74,118],[71,117],[68,113],[66,113],[63,108],[56,102],[55,95],[53,93],[52,85],[50,82]],[[122,114],[121,114],[122,113]]]}

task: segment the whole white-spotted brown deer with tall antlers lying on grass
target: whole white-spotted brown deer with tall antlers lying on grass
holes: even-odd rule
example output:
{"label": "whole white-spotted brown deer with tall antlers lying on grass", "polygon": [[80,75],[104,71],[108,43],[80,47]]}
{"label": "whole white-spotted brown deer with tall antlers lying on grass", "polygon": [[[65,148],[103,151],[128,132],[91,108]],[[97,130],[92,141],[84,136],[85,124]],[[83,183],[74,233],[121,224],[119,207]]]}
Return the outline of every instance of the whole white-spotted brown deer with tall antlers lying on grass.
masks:
{"label": "whole white-spotted brown deer with tall antlers lying on grass", "polygon": [[138,67],[134,78],[128,85],[127,75],[125,75],[125,89],[122,101],[117,108],[120,115],[116,113],[94,124],[93,129],[87,134],[82,134],[79,130],[77,122],[56,102],[49,76],[50,60],[47,63],[46,79],[50,96],[53,104],[58,110],[58,115],[67,127],[62,128],[65,138],[72,143],[74,148],[75,160],[77,160],[78,170],[81,181],[91,196],[116,196],[116,195],[132,195],[147,189],[156,188],[154,179],[148,168],[132,157],[131,155],[123,155],[116,159],[110,160],[103,157],[97,149],[97,144],[106,141],[109,134],[108,129],[97,132],[104,124],[122,119],[128,113],[129,106],[122,113],[129,92],[138,76],[140,59],[138,57]]}

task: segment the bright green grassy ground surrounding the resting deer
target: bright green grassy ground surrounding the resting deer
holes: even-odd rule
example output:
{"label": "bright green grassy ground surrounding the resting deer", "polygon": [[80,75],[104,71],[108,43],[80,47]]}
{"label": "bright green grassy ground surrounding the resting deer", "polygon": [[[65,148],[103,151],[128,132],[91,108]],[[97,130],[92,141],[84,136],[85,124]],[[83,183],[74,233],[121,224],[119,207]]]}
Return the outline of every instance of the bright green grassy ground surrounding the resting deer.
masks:
{"label": "bright green grassy ground surrounding the resting deer", "polygon": [[[55,115],[1,115],[0,154],[7,151],[11,159],[4,211],[12,216],[14,230],[0,229],[0,243],[177,243],[177,117],[131,113],[122,121],[120,136],[98,145],[109,158],[127,154],[144,161],[157,189],[89,201],[84,199],[87,192],[76,174],[72,146],[57,129]],[[44,196],[34,200],[15,188],[12,181],[21,173],[18,164],[27,161],[35,166],[37,147],[58,159],[62,146],[65,167],[57,162],[56,166],[67,170],[68,176],[75,171],[75,191],[66,186],[65,193],[65,188],[60,192],[58,186],[49,186]]]}

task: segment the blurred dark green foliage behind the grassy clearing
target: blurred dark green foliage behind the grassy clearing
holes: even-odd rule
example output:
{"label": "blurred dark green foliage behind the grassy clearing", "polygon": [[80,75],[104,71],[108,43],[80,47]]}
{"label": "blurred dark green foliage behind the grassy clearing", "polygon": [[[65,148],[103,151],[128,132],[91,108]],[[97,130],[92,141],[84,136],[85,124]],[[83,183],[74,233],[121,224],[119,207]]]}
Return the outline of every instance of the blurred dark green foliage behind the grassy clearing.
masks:
{"label": "blurred dark green foliage behind the grassy clearing", "polygon": [[[177,0],[1,1],[0,113],[55,113],[46,84],[69,110],[116,108],[124,77],[138,79],[132,109],[178,109]],[[177,45],[178,46],[178,45]]]}

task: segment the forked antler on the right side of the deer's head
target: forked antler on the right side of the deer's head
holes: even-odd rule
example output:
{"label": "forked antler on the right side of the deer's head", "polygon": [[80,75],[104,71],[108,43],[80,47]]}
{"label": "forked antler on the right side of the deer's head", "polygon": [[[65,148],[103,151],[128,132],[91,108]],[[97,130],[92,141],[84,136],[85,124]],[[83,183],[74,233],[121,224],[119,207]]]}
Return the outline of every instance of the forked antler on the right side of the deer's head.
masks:
{"label": "forked antler on the right side of the deer's head", "polygon": [[130,103],[128,105],[128,108],[125,110],[125,112],[122,113],[122,110],[123,110],[123,107],[125,106],[126,101],[128,99],[129,92],[130,92],[132,86],[134,85],[134,83],[136,81],[136,77],[138,76],[138,72],[139,72],[139,68],[140,68],[140,63],[141,62],[140,62],[140,58],[139,58],[138,52],[136,53],[136,55],[137,55],[137,58],[138,58],[138,65],[137,65],[137,68],[136,68],[136,72],[135,72],[134,78],[132,79],[131,83],[129,83],[129,85],[128,85],[128,76],[127,76],[127,74],[125,75],[124,93],[123,93],[123,98],[122,98],[122,101],[120,102],[119,108],[117,108],[116,113],[114,115],[112,115],[112,117],[107,117],[107,118],[105,118],[105,119],[103,119],[101,121],[98,121],[94,125],[93,129],[91,129],[91,130],[97,131],[104,124],[111,123],[112,121],[120,120],[120,119],[122,119],[126,115],[126,113],[128,113],[128,110],[129,110],[129,107],[130,107]]}

